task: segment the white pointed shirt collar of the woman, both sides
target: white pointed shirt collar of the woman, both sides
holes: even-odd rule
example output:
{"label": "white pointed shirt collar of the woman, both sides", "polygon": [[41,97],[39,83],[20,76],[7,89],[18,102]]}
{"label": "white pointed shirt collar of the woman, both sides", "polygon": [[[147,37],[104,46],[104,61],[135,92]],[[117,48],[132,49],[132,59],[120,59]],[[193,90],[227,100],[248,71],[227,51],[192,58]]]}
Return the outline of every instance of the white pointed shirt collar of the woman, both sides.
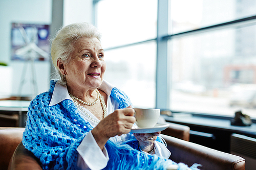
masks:
{"label": "white pointed shirt collar of the woman, both sides", "polygon": [[[114,88],[114,86],[112,84],[103,80],[102,84],[100,85],[100,87],[98,89],[104,91],[108,95],[108,98],[109,98],[109,96],[111,94],[111,90],[113,88]],[[62,84],[60,84],[60,81],[58,81],[54,87],[52,99],[50,101],[49,106],[56,105],[66,99],[72,100],[69,95],[67,85],[66,84],[62,85]]]}

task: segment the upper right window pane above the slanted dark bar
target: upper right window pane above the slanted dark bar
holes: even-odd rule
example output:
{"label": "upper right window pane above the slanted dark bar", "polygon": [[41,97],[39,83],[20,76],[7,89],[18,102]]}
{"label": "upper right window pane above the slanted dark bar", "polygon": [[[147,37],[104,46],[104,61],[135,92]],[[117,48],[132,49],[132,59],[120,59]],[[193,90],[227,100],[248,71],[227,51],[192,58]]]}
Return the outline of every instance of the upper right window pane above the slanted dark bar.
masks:
{"label": "upper right window pane above the slanted dark bar", "polygon": [[170,0],[169,33],[216,25],[256,15],[255,0]]}

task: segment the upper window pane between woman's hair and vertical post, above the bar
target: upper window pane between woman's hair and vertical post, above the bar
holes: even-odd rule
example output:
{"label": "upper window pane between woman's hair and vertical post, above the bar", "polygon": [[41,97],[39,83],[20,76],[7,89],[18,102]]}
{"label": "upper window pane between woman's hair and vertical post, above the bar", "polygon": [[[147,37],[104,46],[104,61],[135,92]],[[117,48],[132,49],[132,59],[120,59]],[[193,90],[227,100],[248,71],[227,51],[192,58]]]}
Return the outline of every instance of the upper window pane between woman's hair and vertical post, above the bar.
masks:
{"label": "upper window pane between woman's hair and vertical post, above the bar", "polygon": [[97,7],[104,48],[156,38],[157,0],[105,0]]}

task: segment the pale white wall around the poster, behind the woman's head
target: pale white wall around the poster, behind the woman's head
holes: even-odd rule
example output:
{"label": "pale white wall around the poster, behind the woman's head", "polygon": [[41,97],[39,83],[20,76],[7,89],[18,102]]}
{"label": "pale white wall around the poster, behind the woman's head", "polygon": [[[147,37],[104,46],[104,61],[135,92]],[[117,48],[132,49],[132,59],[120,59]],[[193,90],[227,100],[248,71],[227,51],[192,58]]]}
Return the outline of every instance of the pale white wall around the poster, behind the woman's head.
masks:
{"label": "pale white wall around the poster, behind the woman's head", "polygon": [[[35,23],[50,25],[52,21],[52,1],[53,0],[1,0],[0,1],[0,62],[5,62],[11,67],[12,76],[8,79],[0,80],[1,89],[9,89],[4,82],[11,84],[11,91],[1,90],[1,96],[18,95],[20,81],[23,78],[25,62],[11,61],[11,23]],[[54,0],[57,1],[57,0]],[[58,0],[59,1],[59,0]],[[73,22],[92,22],[92,0],[64,0],[63,25]],[[25,72],[25,84],[22,95],[34,93],[34,86],[31,82],[33,77],[31,65],[28,63]],[[1,69],[3,70],[3,69]],[[0,74],[6,74],[0,70]],[[35,62],[35,77],[37,93],[49,89],[50,62]],[[6,78],[6,77],[5,77]],[[3,92],[5,91],[5,92]],[[33,97],[33,96],[32,96]]]}

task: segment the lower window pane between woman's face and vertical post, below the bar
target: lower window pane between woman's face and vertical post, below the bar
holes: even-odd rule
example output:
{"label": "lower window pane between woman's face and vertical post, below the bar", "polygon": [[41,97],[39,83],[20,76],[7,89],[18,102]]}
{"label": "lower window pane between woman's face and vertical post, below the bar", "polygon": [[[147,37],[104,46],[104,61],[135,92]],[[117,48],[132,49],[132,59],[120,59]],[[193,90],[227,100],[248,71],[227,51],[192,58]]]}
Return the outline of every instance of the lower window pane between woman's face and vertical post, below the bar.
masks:
{"label": "lower window pane between woman's face and vertical post, below the bar", "polygon": [[134,107],[155,108],[156,43],[105,51],[104,79],[124,91]]}

